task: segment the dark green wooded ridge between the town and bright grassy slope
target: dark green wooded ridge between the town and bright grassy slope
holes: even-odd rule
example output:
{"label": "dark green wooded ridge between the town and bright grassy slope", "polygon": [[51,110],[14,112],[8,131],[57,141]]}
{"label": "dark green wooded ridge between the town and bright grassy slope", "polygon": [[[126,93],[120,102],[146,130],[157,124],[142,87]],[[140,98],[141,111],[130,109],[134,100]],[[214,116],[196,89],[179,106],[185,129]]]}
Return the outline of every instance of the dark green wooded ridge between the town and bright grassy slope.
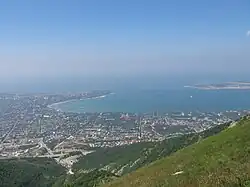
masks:
{"label": "dark green wooded ridge between the town and bright grassy slope", "polygon": [[121,147],[98,149],[82,157],[74,164],[74,171],[81,169],[105,169],[123,175],[130,173],[153,161],[166,157],[179,149],[200,141],[202,138],[217,134],[230,123],[221,124],[199,134],[188,134],[170,138],[162,142],[144,142]]}

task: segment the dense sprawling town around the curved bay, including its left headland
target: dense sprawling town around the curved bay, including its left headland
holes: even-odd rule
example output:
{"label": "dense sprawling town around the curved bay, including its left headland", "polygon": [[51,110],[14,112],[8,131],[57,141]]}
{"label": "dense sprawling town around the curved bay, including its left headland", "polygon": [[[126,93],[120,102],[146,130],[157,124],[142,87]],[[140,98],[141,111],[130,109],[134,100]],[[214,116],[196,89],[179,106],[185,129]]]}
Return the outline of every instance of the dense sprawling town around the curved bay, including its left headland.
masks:
{"label": "dense sprawling town around the curved bay, including its left headland", "polygon": [[238,119],[248,111],[169,113],[70,113],[53,104],[111,94],[0,94],[0,158],[51,157],[65,167],[100,147],[201,132]]}

